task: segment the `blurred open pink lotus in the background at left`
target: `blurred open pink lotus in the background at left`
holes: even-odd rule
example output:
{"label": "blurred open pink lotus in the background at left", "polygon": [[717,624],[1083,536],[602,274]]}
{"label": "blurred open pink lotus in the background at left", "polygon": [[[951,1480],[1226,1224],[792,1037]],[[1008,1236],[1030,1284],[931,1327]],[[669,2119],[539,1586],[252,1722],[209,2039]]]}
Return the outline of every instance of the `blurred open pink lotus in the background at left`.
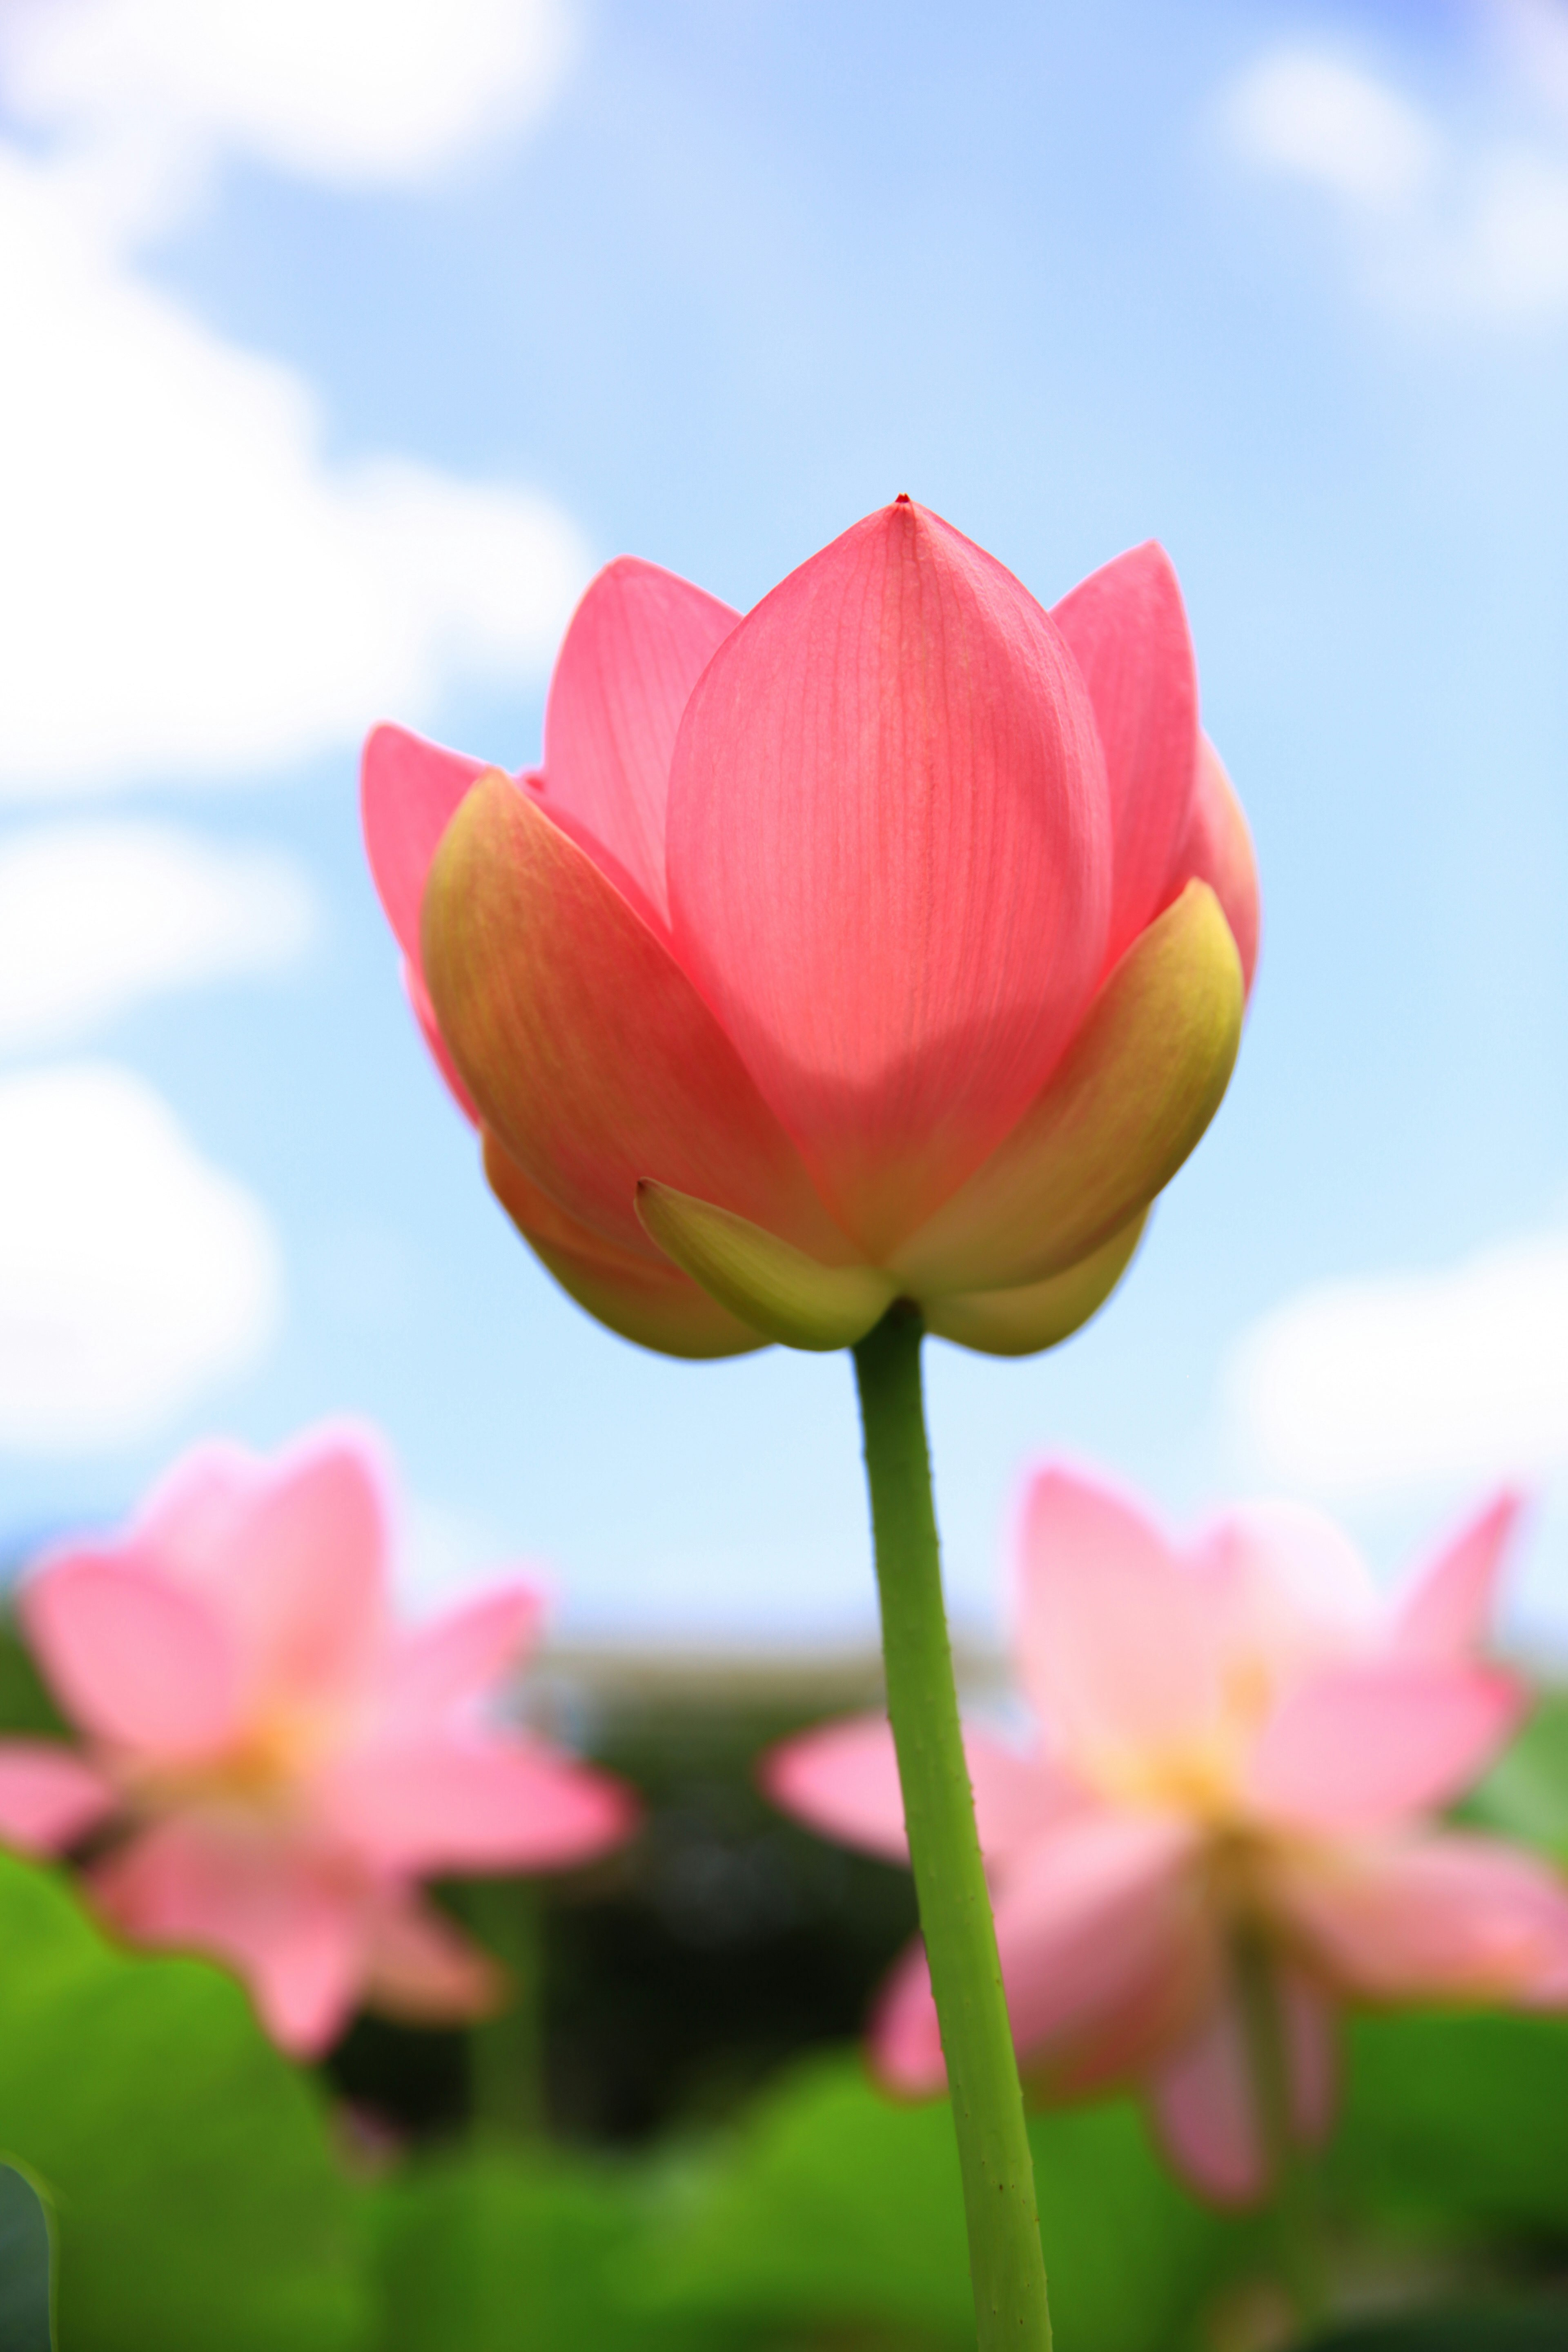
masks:
{"label": "blurred open pink lotus in the background at left", "polygon": [[364,1999],[484,2013],[484,1952],[418,1898],[433,1872],[555,1870],[618,1844],[630,1792],[482,1703],[538,1630],[508,1583],[428,1625],[388,1613],[374,1449],[322,1432],[275,1461],[188,1454],[110,1543],[47,1557],[21,1625],[85,1752],[0,1740],[0,1835],[89,1863],[134,1943],[209,1952],[284,2049]]}

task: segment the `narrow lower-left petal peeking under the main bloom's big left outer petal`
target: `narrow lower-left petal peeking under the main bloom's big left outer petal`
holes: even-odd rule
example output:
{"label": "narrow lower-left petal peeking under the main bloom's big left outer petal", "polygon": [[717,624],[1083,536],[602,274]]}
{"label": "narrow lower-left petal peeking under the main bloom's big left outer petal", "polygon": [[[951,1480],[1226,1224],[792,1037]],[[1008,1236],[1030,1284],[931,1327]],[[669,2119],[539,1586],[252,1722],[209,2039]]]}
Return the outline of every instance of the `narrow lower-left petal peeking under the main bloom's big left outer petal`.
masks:
{"label": "narrow lower-left petal peeking under the main bloom's big left outer petal", "polygon": [[484,1174],[517,1232],[567,1296],[621,1338],[658,1348],[661,1355],[698,1359],[748,1355],[766,1345],[759,1331],[738,1322],[679,1265],[632,1256],[578,1225],[522,1174],[491,1134],[484,1136]]}

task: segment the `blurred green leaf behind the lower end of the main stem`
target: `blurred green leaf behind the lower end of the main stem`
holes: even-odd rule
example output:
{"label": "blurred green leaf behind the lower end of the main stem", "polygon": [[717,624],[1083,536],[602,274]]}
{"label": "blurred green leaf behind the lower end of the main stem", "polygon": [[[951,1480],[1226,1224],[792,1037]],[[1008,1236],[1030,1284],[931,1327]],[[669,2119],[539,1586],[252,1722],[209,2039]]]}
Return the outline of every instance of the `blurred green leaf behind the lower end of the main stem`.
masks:
{"label": "blurred green leaf behind the lower end of the main stem", "polygon": [[[1175,2187],[1126,2103],[1037,2117],[1030,2140],[1058,2340],[1168,2352],[1251,2239]],[[947,2107],[879,2098],[858,2058],[802,2065],[715,2157],[651,2274],[670,2307],[755,2328],[973,2345]]]}

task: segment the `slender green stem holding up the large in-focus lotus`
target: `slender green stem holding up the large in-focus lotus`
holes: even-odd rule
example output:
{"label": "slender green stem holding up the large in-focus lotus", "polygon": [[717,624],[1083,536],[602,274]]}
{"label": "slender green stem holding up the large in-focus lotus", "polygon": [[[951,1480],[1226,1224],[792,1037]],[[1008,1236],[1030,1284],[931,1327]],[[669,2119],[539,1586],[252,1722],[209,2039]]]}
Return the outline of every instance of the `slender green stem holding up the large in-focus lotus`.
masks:
{"label": "slender green stem holding up the large in-focus lotus", "polygon": [[853,1352],[889,1719],[959,2140],[978,2352],[1051,2352],[1034,2164],[947,1646],[919,1343],[919,1310],[900,1301]]}

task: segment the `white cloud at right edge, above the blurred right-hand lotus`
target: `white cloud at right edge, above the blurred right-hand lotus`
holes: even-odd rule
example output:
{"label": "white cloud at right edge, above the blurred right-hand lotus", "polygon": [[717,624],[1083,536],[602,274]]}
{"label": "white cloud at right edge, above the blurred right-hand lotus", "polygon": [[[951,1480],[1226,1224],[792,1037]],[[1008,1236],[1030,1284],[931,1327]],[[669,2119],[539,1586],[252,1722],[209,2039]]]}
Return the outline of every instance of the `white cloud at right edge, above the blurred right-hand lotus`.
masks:
{"label": "white cloud at right edge, above the blurred right-hand lotus", "polygon": [[1269,1475],[1345,1498],[1568,1463],[1568,1235],[1286,1301],[1225,1374]]}

